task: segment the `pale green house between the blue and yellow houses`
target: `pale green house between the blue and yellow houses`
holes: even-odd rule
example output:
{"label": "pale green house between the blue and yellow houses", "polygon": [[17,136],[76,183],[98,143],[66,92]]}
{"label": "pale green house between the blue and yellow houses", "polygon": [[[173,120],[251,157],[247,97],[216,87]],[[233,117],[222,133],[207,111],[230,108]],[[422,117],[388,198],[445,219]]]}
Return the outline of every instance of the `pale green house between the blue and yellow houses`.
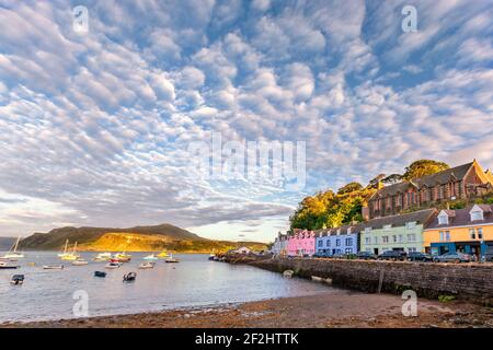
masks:
{"label": "pale green house between the blue and yellow houses", "polygon": [[426,209],[364,222],[360,250],[377,255],[387,250],[424,252],[423,230],[435,213],[436,209]]}

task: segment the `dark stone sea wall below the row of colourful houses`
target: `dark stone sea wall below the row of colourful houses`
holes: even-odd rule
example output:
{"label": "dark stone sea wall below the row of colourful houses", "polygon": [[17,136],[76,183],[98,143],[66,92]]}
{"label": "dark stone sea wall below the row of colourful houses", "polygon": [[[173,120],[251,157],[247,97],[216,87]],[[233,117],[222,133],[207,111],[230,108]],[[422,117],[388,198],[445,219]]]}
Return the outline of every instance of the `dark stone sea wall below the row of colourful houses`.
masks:
{"label": "dark stone sea wall below the row of colourful houses", "polygon": [[366,292],[402,293],[412,289],[419,296],[455,295],[493,304],[493,265],[376,261],[346,259],[271,258],[228,256],[228,262],[249,264],[271,271],[293,270],[295,276],[330,279],[335,287]]}

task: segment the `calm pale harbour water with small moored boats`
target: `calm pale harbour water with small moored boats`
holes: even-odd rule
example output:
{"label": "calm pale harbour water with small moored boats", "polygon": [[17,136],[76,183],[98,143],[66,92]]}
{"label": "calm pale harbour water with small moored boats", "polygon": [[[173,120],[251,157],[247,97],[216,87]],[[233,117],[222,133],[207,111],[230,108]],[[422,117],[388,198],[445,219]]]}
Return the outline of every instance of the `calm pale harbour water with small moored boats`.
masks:
{"label": "calm pale harbour water with small moored boats", "polygon": [[[0,270],[0,323],[71,318],[77,290],[89,294],[89,316],[151,312],[187,306],[257,301],[282,296],[328,292],[328,285],[249,266],[208,261],[208,255],[175,255],[179,264],[158,261],[153,269],[138,270],[148,253],[131,253],[130,262],[114,270],[106,262],[91,261],[93,253],[82,253],[87,266],[71,266],[55,252],[27,252],[18,270]],[[36,266],[27,266],[36,262]],[[65,265],[64,270],[43,270],[43,265]],[[106,271],[95,278],[94,271]],[[137,280],[123,283],[124,273],[137,272]],[[25,275],[23,285],[11,285],[14,273]]]}

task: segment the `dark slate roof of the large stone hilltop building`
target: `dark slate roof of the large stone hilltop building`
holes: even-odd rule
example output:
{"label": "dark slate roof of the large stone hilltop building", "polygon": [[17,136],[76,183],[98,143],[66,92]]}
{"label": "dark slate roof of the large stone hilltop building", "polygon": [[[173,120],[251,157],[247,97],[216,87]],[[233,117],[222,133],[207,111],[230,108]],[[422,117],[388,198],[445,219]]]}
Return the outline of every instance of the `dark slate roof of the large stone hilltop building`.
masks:
{"label": "dark slate roof of the large stone hilltop building", "polygon": [[439,173],[435,173],[432,175],[416,177],[410,182],[402,182],[399,184],[386,186],[386,187],[381,188],[380,190],[378,190],[374,196],[371,196],[371,198],[375,198],[376,196],[380,196],[380,197],[394,196],[398,192],[402,194],[410,186],[415,186],[417,188],[422,188],[423,186],[433,187],[436,185],[447,184],[448,180],[450,179],[450,177],[456,178],[456,180],[461,180],[461,179],[463,179],[463,177],[466,176],[468,171],[471,168],[473,163],[474,162],[471,162],[471,163],[462,164],[462,165],[459,165],[456,167],[450,167],[450,168],[447,168],[445,171],[442,171]]}

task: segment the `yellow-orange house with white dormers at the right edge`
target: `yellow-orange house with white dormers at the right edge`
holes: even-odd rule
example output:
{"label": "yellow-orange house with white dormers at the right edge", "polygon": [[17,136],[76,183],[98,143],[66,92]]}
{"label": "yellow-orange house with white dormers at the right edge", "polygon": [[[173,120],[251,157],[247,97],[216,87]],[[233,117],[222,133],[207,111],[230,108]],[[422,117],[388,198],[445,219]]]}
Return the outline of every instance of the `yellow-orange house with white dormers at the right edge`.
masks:
{"label": "yellow-orange house with white dormers at the right edge", "polygon": [[482,258],[493,246],[493,206],[442,210],[424,230],[424,246],[432,254],[462,252]]}

